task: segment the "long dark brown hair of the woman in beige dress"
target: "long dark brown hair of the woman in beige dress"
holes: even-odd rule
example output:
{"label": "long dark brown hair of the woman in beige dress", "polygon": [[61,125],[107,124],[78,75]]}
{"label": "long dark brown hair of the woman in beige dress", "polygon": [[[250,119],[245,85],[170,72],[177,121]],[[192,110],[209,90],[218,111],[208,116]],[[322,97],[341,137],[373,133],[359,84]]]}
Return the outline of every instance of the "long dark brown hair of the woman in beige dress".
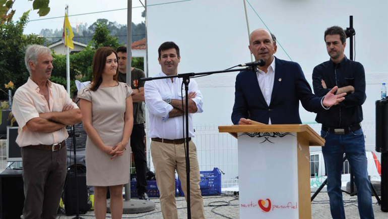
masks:
{"label": "long dark brown hair of the woman in beige dress", "polygon": [[[109,47],[100,47],[97,49],[96,53],[93,57],[93,80],[92,80],[92,87],[90,90],[96,91],[98,87],[100,87],[102,83],[102,73],[104,72],[104,68],[106,65],[106,58],[110,56],[112,53],[116,55],[117,59],[117,53],[115,50],[109,48]],[[116,74],[113,76],[113,80],[117,81],[117,75],[118,75],[118,66],[116,69]]]}

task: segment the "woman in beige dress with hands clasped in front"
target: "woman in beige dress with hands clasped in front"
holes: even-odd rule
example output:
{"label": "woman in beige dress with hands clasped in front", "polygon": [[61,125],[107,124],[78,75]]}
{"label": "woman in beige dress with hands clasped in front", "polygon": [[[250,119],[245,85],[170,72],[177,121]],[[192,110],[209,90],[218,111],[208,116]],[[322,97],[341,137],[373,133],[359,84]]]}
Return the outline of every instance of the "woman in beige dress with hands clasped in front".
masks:
{"label": "woman in beige dress with hands clasped in front", "polygon": [[112,218],[122,215],[122,187],[129,182],[130,150],[126,150],[134,124],[132,89],[117,82],[117,53],[97,49],[92,83],[78,92],[86,133],[86,184],[94,186],[94,212],[106,216],[110,191]]}

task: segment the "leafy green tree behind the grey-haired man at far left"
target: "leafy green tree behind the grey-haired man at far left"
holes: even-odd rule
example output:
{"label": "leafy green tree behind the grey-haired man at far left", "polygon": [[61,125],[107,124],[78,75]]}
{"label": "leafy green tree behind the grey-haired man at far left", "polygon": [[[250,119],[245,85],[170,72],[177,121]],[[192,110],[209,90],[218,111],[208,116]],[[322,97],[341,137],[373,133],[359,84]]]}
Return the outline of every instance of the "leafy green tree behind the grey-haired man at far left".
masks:
{"label": "leafy green tree behind the grey-haired man at far left", "polygon": [[[40,44],[45,39],[35,35],[24,35],[23,30],[27,24],[29,12],[23,14],[20,22],[7,22],[0,26],[0,86],[4,86],[9,81],[14,82],[18,88],[23,85],[29,73],[24,64],[26,46],[29,44]],[[3,87],[2,87],[3,88]],[[0,99],[8,99],[6,94],[0,93]]]}

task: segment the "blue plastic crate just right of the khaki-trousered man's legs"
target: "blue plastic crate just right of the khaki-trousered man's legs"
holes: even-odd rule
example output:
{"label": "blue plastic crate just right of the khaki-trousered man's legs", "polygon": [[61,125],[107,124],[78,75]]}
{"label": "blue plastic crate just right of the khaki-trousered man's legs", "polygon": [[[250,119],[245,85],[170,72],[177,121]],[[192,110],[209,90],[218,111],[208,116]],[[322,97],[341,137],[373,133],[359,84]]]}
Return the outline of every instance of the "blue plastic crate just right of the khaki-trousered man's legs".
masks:
{"label": "blue plastic crate just right of the khaki-trousered man's legs", "polygon": [[[213,171],[201,171],[201,193],[202,195],[219,195],[221,194],[221,171],[214,168]],[[179,178],[178,178],[179,180]],[[179,195],[184,196],[181,182],[179,180]]]}

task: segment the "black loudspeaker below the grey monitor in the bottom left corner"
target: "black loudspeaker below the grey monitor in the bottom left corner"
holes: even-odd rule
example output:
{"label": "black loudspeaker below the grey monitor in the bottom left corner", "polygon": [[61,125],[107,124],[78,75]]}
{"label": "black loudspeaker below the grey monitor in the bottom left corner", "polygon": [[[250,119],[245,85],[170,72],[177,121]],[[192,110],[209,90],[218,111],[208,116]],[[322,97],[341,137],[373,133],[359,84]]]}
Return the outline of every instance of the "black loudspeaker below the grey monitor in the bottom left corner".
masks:
{"label": "black loudspeaker below the grey monitor in the bottom left corner", "polygon": [[20,218],[23,214],[23,171],[7,169],[0,174],[0,216],[2,219]]}

